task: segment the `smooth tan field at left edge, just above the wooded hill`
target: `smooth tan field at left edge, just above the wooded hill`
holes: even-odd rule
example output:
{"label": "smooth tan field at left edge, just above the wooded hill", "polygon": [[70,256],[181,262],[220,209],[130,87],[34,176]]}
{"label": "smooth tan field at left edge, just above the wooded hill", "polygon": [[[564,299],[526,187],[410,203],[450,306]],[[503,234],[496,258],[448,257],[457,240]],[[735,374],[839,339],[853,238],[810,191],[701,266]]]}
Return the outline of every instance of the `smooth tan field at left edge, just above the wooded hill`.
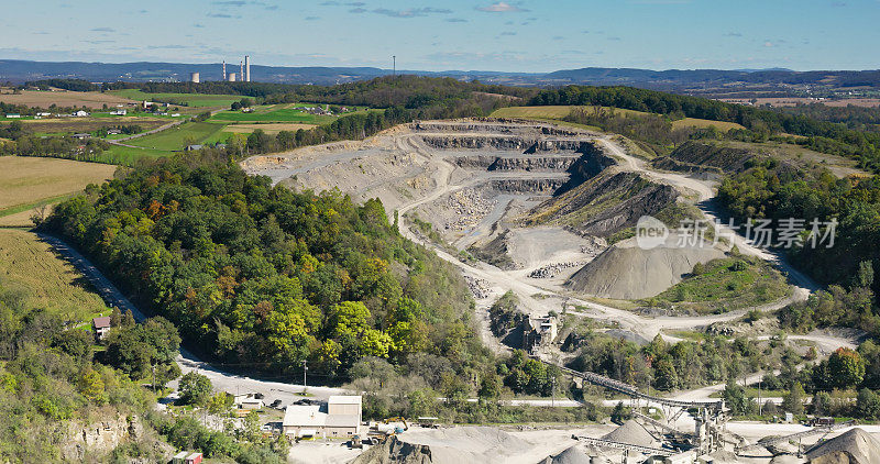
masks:
{"label": "smooth tan field at left edge, just above the wooded hill", "polygon": [[58,158],[0,156],[0,217],[46,205],[113,177],[116,166]]}

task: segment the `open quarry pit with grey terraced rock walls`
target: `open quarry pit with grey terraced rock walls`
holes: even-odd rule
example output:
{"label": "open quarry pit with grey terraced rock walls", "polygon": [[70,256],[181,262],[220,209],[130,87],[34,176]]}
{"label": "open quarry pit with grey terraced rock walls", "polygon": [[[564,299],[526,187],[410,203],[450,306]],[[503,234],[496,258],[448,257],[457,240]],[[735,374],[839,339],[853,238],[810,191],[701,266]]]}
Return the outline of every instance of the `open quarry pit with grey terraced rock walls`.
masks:
{"label": "open quarry pit with grey terraced rock walls", "polygon": [[[466,250],[512,278],[561,290],[576,273],[568,284],[575,291],[641,297],[615,289],[635,285],[660,292],[702,256],[669,251],[647,258],[642,265],[674,265],[645,285],[653,269],[634,265],[623,252],[605,255],[605,239],[674,205],[681,194],[620,165],[606,143],[597,134],[546,123],[426,121],[363,142],[257,156],[242,166],[297,189],[339,189],[356,201],[378,198],[389,219],[399,214],[407,233],[439,237],[451,255]],[[594,258],[604,263],[600,270],[590,270]],[[615,265],[618,259],[625,264]],[[582,285],[583,276],[590,276],[588,285]]]}

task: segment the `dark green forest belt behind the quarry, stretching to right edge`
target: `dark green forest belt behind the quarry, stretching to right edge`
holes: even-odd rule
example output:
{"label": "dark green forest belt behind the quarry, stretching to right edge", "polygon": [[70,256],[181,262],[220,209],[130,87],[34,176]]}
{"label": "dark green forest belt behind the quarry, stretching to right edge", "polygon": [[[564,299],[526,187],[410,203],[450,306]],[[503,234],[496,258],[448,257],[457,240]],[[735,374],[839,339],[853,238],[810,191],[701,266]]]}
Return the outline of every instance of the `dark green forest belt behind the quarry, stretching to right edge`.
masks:
{"label": "dark green forest belt behind the quarry, stretching to right edge", "polygon": [[676,119],[700,118],[736,122],[748,130],[748,134],[739,134],[740,137],[748,135],[766,140],[777,134],[793,134],[801,137],[783,137],[817,152],[856,159],[861,167],[880,172],[880,132],[851,130],[845,124],[820,121],[803,114],[631,87],[570,86],[543,90],[529,103],[595,104],[668,114]]}

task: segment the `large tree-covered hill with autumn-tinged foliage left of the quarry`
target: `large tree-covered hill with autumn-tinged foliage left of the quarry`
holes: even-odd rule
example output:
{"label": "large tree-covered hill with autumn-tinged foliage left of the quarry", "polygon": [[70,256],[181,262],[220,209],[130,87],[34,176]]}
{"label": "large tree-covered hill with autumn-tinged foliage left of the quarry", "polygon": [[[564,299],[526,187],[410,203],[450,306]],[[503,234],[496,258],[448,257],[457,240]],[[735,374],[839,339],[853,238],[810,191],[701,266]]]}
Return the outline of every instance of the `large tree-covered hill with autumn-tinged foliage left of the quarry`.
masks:
{"label": "large tree-covered hill with autumn-tinged foliage left of the quarry", "polygon": [[344,376],[362,356],[484,355],[461,278],[378,200],[272,187],[237,165],[141,166],[43,224],[216,360]]}

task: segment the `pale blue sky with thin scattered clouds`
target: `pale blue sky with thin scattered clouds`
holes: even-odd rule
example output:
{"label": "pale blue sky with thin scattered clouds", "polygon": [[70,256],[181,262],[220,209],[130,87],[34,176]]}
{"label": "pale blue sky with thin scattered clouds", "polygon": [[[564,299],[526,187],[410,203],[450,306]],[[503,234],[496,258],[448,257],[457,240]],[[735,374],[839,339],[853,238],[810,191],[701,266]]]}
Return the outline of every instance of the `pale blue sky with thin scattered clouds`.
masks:
{"label": "pale blue sky with thin scattered clouds", "polygon": [[38,0],[0,58],[549,71],[880,68],[880,0]]}

